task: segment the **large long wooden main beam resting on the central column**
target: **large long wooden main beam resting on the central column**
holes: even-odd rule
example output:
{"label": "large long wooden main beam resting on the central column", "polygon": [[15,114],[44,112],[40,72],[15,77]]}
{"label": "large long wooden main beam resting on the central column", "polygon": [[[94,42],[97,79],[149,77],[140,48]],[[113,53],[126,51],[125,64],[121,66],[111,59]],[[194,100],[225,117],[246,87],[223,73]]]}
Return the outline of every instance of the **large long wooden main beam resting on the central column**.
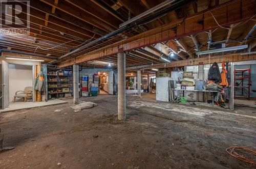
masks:
{"label": "large long wooden main beam resting on the central column", "polygon": [[[241,2],[241,0],[238,1],[238,3],[239,2]],[[219,15],[215,16],[215,18],[217,20],[222,20],[220,23],[222,26],[248,20],[254,16],[254,13],[256,12],[254,1],[240,3],[242,6],[233,6],[233,3],[237,2],[229,1],[210,10],[212,13],[219,12]],[[234,13],[230,10],[227,10],[231,7],[232,11],[242,11],[242,13]],[[181,18],[175,22],[158,27],[157,29],[147,31],[126,40],[122,40],[112,45],[97,49],[90,53],[80,55],[79,57],[72,58],[68,61],[60,63],[59,66],[66,67],[76,63],[82,63],[106,57],[107,55],[118,53],[118,50],[121,48],[124,51],[130,51],[132,49],[153,45],[159,42],[165,42],[200,32],[214,30],[219,27],[219,25],[214,21],[214,18],[209,13],[208,9],[187,17],[185,21],[183,20],[184,19]]]}

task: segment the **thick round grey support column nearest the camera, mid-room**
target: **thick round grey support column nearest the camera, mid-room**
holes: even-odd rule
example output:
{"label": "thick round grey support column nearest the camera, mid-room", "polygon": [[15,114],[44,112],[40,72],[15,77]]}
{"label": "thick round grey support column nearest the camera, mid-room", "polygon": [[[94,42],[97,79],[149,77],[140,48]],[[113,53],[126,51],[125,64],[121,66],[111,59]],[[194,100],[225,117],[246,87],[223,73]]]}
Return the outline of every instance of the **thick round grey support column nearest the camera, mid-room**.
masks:
{"label": "thick round grey support column nearest the camera, mid-room", "polygon": [[125,53],[117,54],[118,76],[118,120],[126,119],[126,96],[125,96]]}

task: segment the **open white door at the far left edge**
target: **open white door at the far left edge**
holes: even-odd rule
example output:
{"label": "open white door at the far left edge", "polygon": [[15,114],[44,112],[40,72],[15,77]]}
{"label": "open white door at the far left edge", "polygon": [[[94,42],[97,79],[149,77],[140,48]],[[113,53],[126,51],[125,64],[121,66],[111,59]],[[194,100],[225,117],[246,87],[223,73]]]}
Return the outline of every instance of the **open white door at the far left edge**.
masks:
{"label": "open white door at the far left edge", "polygon": [[9,64],[2,61],[2,109],[9,106]]}

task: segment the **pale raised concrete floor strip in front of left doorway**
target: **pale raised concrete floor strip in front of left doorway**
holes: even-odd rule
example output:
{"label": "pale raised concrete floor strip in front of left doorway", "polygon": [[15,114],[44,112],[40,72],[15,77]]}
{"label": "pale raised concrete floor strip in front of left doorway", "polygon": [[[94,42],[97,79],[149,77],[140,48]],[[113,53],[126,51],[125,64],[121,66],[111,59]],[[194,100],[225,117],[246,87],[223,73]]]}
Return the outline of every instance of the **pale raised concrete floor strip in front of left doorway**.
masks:
{"label": "pale raised concrete floor strip in front of left doorway", "polygon": [[20,109],[33,108],[33,107],[63,104],[63,103],[67,103],[67,102],[63,101],[63,100],[59,100],[59,99],[49,100],[48,102],[45,102],[45,101],[41,101],[41,102],[24,102],[24,101],[10,102],[10,105],[7,108],[0,109],[0,113],[1,112],[20,110]]}

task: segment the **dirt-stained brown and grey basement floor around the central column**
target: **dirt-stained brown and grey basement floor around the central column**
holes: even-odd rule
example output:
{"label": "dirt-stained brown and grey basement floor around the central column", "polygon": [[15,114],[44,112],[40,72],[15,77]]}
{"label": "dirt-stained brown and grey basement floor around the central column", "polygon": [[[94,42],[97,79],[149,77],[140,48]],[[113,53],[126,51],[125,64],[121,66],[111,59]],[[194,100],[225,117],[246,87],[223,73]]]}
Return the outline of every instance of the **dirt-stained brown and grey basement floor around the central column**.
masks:
{"label": "dirt-stained brown and grey basement floor around the central column", "polygon": [[[127,120],[117,120],[117,96],[2,114],[0,168],[254,168],[226,153],[256,147],[255,108],[236,111],[127,96]],[[60,111],[55,111],[59,109]],[[59,165],[58,165],[59,163]]]}

